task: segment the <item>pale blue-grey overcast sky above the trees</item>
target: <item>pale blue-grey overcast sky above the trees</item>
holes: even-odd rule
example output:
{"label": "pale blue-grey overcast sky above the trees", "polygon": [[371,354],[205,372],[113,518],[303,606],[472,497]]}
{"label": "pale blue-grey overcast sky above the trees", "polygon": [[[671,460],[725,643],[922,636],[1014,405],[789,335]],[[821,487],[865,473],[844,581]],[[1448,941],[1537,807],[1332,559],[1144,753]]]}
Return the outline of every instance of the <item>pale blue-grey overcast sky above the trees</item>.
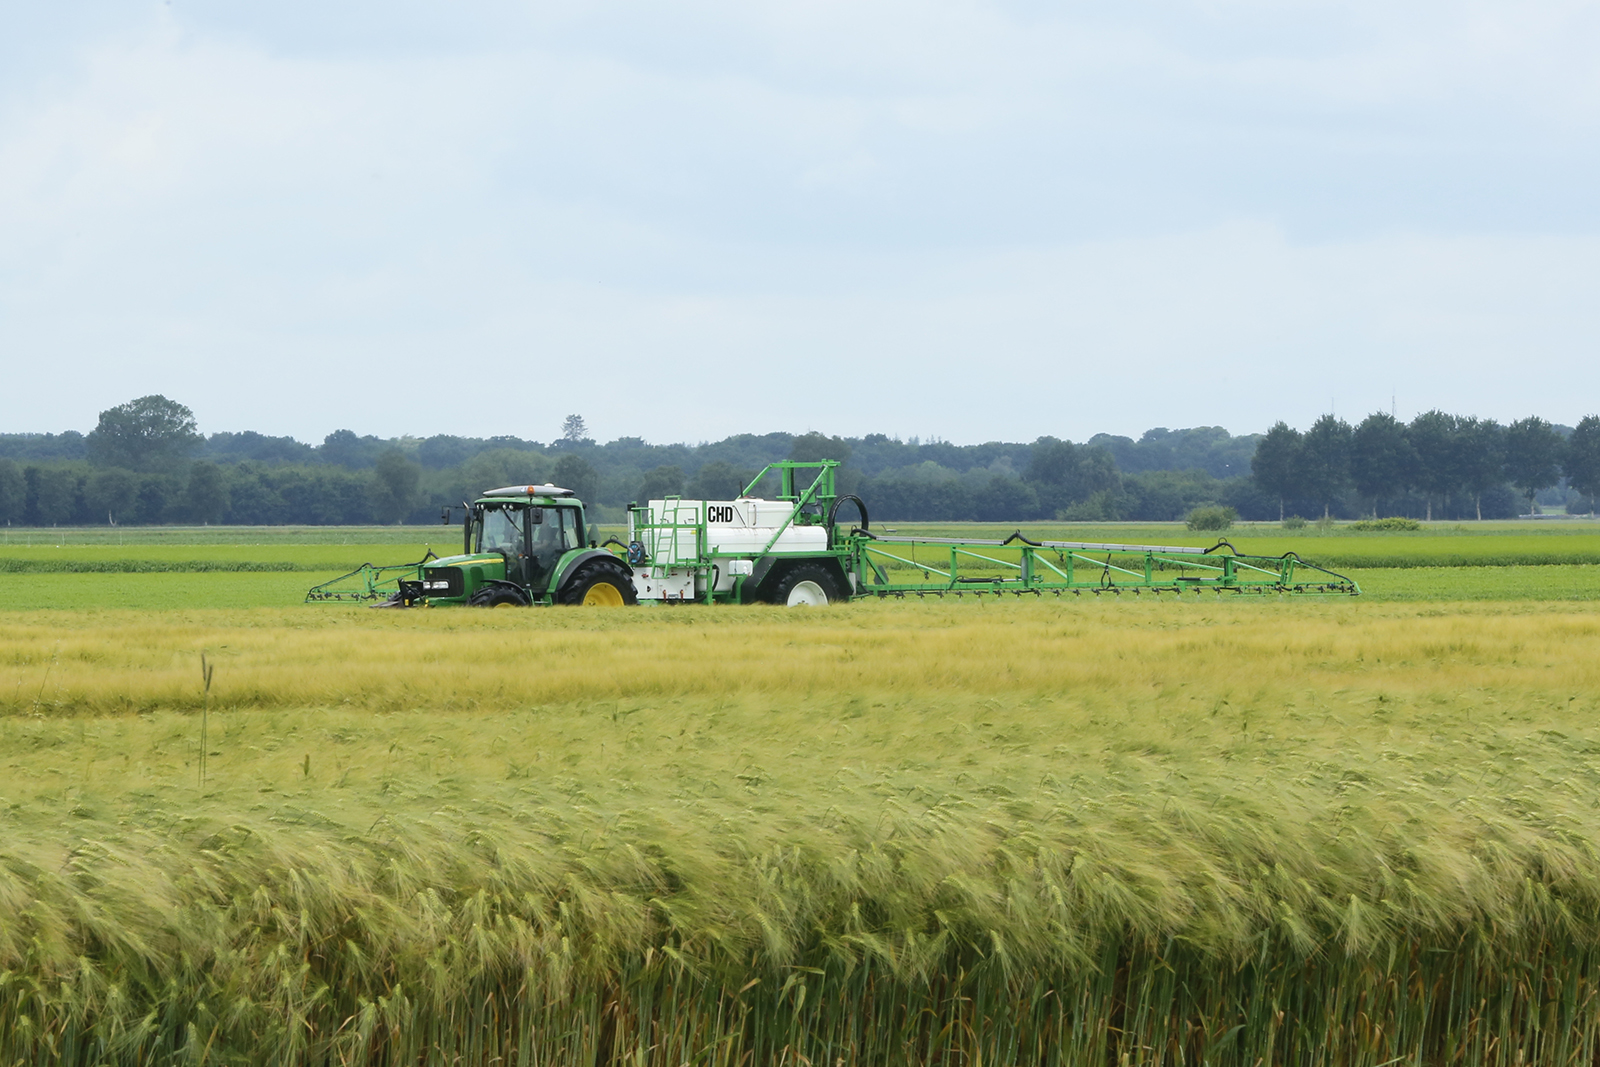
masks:
{"label": "pale blue-grey overcast sky above the trees", "polygon": [[1600,410],[1600,3],[0,0],[0,430]]}

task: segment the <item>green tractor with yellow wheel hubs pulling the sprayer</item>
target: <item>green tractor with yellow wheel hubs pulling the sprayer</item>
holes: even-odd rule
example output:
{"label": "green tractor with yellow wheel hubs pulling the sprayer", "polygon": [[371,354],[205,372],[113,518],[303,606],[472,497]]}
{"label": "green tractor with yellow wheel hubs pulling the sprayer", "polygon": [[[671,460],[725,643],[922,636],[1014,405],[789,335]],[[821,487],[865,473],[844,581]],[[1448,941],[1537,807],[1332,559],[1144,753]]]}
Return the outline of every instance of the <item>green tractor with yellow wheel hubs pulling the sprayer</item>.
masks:
{"label": "green tractor with yellow wheel hubs pulling the sprayer", "polygon": [[[445,510],[445,522],[450,512]],[[530,605],[622,606],[638,603],[634,571],[595,544],[584,506],[571,490],[510,485],[466,506],[461,555],[424,560],[384,606]]]}

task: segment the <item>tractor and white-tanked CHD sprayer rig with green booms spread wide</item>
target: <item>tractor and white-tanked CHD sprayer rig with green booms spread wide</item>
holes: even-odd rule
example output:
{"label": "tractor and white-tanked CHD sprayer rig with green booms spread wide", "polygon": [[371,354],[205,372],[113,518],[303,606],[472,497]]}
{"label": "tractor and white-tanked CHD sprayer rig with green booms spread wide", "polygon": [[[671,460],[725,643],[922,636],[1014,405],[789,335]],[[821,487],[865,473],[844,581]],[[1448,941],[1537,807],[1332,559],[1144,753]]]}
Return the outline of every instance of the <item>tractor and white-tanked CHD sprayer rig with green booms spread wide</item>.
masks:
{"label": "tractor and white-tanked CHD sprayer rig with green booms spread wide", "polygon": [[[774,462],[733,501],[630,504],[627,542],[597,542],[584,504],[554,485],[490,490],[462,504],[461,555],[350,571],[306,600],[424,605],[824,605],[861,597],[1358,595],[1349,577],[1290,552],[1186,545],[917,537],[874,533],[835,488],[838,462]],[[773,499],[754,496],[768,477]],[[445,510],[445,522],[451,512]],[[846,525],[842,522],[853,520]]]}

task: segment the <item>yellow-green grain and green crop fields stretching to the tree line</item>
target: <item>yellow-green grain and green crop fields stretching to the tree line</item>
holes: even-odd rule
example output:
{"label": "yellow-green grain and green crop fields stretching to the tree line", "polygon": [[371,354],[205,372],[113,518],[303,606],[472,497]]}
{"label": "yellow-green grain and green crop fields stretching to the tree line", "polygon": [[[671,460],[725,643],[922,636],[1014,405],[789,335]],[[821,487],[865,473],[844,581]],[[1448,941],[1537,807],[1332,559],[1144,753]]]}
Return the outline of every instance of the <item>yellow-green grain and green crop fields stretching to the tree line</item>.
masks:
{"label": "yellow-green grain and green crop fields stretching to the tree line", "polygon": [[301,603],[448,530],[11,531],[0,1064],[1592,1064],[1589,530],[498,613]]}

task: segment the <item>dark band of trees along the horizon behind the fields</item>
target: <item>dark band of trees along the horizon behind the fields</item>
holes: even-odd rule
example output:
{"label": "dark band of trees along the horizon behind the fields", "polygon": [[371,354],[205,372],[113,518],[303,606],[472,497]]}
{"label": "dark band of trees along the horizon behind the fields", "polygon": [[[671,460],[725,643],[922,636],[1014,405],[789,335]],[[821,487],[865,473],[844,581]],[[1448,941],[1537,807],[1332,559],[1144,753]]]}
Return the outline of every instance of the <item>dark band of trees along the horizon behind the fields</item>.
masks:
{"label": "dark band of trees along the horizon behind the fields", "polygon": [[[838,459],[840,488],[878,522],[1174,520],[1226,506],[1245,518],[1509,517],[1536,499],[1592,507],[1600,424],[1493,421],[1430,411],[1410,424],[1333,416],[1301,434],[1157,427],[1138,440],[952,445],[821,434],[742,434],[699,445],[594,442],[570,416],[550,442],[362,437],[320,445],[254,432],[203,437],[165,397],[102,411],[90,434],[0,434],[6,525],[360,525],[437,522],[498,485],[555,482],[619,522],[632,501],[726,499],[774,459]],[[1546,499],[1552,498],[1552,499]]]}

